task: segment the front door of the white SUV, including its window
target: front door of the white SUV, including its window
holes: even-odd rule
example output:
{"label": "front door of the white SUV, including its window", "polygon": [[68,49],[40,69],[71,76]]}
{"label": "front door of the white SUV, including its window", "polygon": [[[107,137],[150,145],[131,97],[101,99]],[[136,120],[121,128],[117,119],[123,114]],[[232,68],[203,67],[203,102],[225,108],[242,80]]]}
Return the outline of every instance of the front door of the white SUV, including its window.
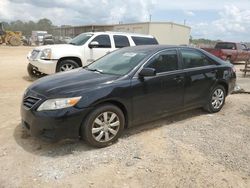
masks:
{"label": "front door of the white SUV, including its window", "polygon": [[92,42],[97,42],[95,46],[91,47],[87,46],[85,48],[85,55],[87,59],[87,63],[91,63],[92,61],[99,59],[100,57],[110,53],[111,51],[115,50],[114,47],[111,45],[110,36],[107,34],[102,34],[96,36],[93,40],[89,42],[89,45]]}

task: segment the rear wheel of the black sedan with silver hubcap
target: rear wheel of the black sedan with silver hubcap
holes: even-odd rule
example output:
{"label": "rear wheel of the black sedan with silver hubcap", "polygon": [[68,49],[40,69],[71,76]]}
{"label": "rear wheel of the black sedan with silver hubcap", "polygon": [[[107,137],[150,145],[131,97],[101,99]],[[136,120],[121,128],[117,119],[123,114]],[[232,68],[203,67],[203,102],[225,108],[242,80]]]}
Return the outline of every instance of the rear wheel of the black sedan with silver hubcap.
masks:
{"label": "rear wheel of the black sedan with silver hubcap", "polygon": [[219,112],[224,106],[226,98],[226,91],[222,85],[217,85],[209,95],[209,99],[207,105],[205,106],[205,110],[210,113]]}

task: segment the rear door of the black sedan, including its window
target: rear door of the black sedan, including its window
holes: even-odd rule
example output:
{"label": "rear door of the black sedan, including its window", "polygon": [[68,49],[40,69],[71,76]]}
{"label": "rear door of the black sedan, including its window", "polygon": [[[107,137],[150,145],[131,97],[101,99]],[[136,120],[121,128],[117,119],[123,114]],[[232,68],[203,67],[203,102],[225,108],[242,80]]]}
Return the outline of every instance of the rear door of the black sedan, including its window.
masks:
{"label": "rear door of the black sedan, including its window", "polygon": [[185,72],[184,106],[207,102],[217,77],[217,64],[196,49],[180,49]]}

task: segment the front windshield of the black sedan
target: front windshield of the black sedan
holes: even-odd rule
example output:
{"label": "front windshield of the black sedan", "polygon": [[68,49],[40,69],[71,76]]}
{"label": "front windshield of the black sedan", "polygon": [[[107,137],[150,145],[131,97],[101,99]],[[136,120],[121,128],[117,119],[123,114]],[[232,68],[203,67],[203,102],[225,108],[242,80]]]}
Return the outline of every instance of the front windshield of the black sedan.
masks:
{"label": "front windshield of the black sedan", "polygon": [[148,52],[146,51],[117,50],[98,59],[86,69],[103,74],[122,76],[135,68],[147,55]]}

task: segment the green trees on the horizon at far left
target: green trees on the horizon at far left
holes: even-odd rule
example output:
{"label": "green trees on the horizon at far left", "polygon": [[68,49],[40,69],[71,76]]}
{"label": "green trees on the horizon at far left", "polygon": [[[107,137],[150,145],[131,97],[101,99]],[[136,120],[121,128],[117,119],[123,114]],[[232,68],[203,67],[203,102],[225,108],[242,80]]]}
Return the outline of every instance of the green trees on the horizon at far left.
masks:
{"label": "green trees on the horizon at far left", "polygon": [[47,19],[43,18],[38,20],[38,22],[28,21],[23,22],[21,20],[12,22],[3,22],[4,29],[6,31],[21,31],[24,36],[31,36],[32,31],[48,31],[48,33],[53,34],[53,29],[55,26],[53,23]]}

